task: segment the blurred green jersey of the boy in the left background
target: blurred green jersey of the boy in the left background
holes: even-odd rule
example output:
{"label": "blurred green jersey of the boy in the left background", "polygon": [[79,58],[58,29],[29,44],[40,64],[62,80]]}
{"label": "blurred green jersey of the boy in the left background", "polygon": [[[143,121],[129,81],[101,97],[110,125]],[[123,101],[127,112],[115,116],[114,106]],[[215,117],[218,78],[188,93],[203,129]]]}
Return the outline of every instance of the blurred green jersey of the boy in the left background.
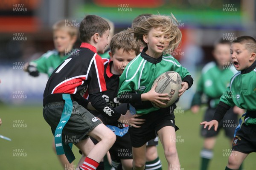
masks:
{"label": "blurred green jersey of the boy in the left background", "polygon": [[[75,51],[72,49],[72,51]],[[47,51],[40,58],[29,62],[29,65],[33,65],[40,73],[46,73],[50,77],[52,72],[57,68],[69,55],[60,56],[57,50]]]}

